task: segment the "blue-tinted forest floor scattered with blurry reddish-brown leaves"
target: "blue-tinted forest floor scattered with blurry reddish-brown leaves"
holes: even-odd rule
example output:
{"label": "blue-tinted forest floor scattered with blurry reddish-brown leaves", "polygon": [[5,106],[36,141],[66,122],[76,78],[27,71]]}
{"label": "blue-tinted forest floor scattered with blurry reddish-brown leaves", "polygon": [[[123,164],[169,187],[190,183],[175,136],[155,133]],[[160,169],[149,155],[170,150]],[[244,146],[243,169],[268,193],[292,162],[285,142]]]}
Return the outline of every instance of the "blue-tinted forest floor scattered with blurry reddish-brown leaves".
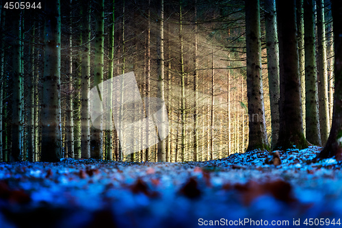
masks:
{"label": "blue-tinted forest floor scattered with blurry reddish-brown leaves", "polygon": [[341,227],[341,162],[320,147],[222,160],[0,164],[0,227]]}

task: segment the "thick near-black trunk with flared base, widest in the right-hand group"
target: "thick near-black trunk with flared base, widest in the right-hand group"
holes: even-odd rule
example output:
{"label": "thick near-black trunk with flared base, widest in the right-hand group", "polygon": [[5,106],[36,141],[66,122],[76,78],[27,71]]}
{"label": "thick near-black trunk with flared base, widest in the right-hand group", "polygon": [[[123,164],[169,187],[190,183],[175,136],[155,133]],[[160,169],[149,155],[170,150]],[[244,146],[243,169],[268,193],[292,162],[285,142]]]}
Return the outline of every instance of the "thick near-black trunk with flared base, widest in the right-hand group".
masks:
{"label": "thick near-black trunk with flared base, widest in the right-hand group", "polygon": [[295,0],[278,0],[276,5],[280,60],[280,130],[276,148],[304,149],[308,144],[302,127]]}

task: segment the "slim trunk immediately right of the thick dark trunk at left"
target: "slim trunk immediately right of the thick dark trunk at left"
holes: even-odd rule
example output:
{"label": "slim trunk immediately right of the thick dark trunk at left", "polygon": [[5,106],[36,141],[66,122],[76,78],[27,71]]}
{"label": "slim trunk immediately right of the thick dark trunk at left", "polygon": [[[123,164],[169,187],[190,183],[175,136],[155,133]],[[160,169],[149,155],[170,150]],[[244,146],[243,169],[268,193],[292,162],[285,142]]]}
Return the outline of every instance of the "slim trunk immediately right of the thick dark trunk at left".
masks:
{"label": "slim trunk immediately right of the thick dark trunk at left", "polygon": [[68,77],[68,95],[66,97],[66,147],[68,148],[68,157],[75,157],[74,154],[74,120],[73,120],[73,0],[70,0],[69,5],[69,34],[66,42],[68,43],[68,62],[66,64],[66,73]]}

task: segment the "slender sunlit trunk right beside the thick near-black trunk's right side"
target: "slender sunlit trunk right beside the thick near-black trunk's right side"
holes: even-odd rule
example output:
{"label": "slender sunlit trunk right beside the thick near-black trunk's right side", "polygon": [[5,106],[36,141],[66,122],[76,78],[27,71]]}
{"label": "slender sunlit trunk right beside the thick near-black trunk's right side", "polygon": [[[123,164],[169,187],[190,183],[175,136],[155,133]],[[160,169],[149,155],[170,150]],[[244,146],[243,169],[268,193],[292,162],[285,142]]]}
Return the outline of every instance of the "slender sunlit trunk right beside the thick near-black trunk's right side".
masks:
{"label": "slender sunlit trunk right beside the thick near-black trunk's right side", "polygon": [[[302,116],[303,120],[306,119],[305,115],[305,51],[304,51],[304,10],[303,0],[296,0],[296,18],[297,18],[297,39],[298,39],[298,59],[300,68],[300,94],[302,98]],[[303,131],[305,136],[306,123],[303,121]]]}

